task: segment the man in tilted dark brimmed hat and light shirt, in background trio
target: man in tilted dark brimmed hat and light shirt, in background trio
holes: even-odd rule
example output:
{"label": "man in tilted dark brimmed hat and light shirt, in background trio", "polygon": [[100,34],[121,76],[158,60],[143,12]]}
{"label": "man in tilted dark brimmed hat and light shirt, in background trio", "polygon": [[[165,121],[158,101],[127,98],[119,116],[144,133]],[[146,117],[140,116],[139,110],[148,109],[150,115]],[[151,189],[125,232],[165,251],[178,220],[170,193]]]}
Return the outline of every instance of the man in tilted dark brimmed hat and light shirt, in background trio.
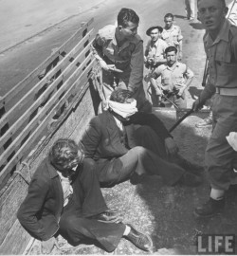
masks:
{"label": "man in tilted dark brimmed hat and light shirt, in background trio", "polygon": [[163,28],[159,26],[150,27],[146,31],[146,34],[151,37],[145,48],[144,61],[146,67],[156,67],[159,64],[166,63],[165,48],[168,45],[160,38],[162,31]]}

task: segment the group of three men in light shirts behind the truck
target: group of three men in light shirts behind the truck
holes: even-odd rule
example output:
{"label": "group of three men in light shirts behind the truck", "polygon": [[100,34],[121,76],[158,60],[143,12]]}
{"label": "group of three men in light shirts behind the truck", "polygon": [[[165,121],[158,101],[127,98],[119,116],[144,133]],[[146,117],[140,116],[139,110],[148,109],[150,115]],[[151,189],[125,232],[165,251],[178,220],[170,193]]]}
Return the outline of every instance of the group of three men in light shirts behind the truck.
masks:
{"label": "group of three men in light shirts behind the truck", "polygon": [[186,89],[191,84],[193,72],[181,63],[183,36],[181,28],[173,24],[173,14],[167,13],[164,22],[165,27],[150,27],[146,31],[151,37],[144,57],[149,69],[146,81],[151,88],[148,91],[158,105],[165,105],[163,99],[175,108],[187,108]]}

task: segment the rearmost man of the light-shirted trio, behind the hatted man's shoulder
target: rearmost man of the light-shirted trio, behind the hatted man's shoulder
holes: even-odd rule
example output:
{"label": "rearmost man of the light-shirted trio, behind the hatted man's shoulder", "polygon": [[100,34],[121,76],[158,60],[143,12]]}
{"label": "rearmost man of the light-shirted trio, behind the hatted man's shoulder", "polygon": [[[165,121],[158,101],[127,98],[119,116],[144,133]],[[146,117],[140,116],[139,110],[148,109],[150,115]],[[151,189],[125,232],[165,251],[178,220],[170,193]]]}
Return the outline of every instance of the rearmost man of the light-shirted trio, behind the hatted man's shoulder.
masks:
{"label": "rearmost man of the light-shirted trio, behind the hatted man's shoulder", "polygon": [[175,46],[178,50],[178,60],[182,60],[182,39],[181,28],[173,25],[173,14],[167,13],[164,17],[165,27],[162,31],[162,39],[168,46]]}

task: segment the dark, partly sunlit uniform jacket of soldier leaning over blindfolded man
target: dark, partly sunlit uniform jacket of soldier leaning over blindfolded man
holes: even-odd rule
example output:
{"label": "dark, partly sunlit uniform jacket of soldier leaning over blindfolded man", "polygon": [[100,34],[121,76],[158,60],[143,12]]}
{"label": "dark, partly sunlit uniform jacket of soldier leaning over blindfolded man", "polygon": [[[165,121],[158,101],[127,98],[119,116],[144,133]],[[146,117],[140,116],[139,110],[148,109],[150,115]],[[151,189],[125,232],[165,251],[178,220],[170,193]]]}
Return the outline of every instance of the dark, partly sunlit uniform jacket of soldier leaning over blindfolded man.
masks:
{"label": "dark, partly sunlit uniform jacket of soldier leaning over blindfolded man", "polygon": [[99,30],[93,42],[94,55],[99,55],[106,64],[115,64],[123,73],[118,74],[121,80],[129,80],[128,88],[136,90],[143,80],[143,42],[136,35],[118,47],[115,38],[116,27],[108,25]]}

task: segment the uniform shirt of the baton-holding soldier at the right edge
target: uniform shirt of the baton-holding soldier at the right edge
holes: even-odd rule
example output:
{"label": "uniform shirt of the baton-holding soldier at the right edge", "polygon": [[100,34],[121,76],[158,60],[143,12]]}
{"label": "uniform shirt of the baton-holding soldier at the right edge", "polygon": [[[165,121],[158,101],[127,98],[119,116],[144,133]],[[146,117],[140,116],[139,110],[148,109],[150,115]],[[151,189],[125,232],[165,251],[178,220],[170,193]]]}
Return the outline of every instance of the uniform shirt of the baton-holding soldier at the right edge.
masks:
{"label": "uniform shirt of the baton-holding soldier at the right edge", "polygon": [[205,91],[211,96],[215,87],[237,87],[237,27],[225,21],[213,42],[210,34],[204,35],[204,47],[209,59],[210,75]]}

